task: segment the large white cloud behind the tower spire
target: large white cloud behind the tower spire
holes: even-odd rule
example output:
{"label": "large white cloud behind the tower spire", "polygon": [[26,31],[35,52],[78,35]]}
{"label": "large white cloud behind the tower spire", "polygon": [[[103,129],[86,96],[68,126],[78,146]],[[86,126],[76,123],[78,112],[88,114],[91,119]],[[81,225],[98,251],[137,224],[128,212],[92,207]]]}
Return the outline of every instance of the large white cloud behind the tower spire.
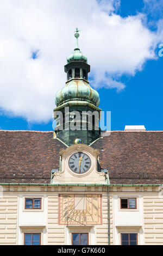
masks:
{"label": "large white cloud behind the tower spire", "polygon": [[[55,93],[65,84],[64,65],[82,28],[80,49],[89,59],[91,86],[117,88],[155,58],[157,33],[143,15],[112,13],[120,0],[3,0],[0,2],[0,108],[28,121],[48,121]],[[31,59],[39,50],[39,58]]]}

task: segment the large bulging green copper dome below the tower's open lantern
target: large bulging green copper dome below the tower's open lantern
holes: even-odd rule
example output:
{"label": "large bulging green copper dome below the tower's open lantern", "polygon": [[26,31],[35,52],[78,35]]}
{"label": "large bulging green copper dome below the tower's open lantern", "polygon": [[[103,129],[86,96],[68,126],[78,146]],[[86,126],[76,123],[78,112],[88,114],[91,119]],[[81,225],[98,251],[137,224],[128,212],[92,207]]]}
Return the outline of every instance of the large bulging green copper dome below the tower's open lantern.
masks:
{"label": "large bulging green copper dome below the tower's open lantern", "polygon": [[65,87],[57,92],[55,98],[57,107],[68,101],[88,101],[98,107],[99,94],[88,82],[78,78],[66,83]]}

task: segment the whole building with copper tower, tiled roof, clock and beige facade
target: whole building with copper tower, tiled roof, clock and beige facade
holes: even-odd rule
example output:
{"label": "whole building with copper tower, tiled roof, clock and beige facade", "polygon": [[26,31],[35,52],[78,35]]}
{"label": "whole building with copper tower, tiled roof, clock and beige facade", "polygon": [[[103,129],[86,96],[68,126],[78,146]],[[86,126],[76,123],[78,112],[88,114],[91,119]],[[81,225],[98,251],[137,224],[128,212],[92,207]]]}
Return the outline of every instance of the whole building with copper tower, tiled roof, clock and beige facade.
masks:
{"label": "whole building with copper tower, tiled roof, clock and beige facade", "polygon": [[75,37],[55,132],[0,130],[0,245],[161,245],[163,132],[101,132]]}

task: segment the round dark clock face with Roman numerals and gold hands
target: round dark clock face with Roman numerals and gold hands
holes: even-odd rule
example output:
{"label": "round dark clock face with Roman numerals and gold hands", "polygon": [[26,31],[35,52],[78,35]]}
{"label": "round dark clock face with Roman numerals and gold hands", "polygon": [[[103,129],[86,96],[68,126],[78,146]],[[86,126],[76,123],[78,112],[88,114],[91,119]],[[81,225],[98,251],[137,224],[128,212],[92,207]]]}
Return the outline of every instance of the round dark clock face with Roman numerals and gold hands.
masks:
{"label": "round dark clock face with Roman numerals and gold hands", "polygon": [[91,159],[82,152],[74,153],[68,160],[68,165],[74,173],[85,173],[91,167]]}

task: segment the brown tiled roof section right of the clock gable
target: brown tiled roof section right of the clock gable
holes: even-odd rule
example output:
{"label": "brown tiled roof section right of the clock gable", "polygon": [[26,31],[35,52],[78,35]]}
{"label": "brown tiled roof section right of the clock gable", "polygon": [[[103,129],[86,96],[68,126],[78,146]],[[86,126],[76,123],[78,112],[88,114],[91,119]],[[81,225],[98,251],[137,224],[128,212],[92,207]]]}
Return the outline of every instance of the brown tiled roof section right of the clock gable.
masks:
{"label": "brown tiled roof section right of the clock gable", "polygon": [[163,184],[163,132],[114,131],[96,141],[110,184]]}

